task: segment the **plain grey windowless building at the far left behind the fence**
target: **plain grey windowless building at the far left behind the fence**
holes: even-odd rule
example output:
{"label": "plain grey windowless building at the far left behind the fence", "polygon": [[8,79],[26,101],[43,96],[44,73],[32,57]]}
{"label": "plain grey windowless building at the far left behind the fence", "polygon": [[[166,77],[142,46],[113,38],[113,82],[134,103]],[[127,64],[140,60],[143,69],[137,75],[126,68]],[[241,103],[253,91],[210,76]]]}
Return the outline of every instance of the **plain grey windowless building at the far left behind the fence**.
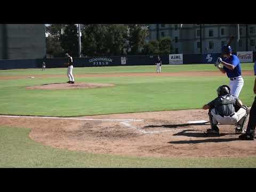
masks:
{"label": "plain grey windowless building at the far left behind the fence", "polygon": [[0,24],[0,59],[38,59],[45,55],[44,24]]}

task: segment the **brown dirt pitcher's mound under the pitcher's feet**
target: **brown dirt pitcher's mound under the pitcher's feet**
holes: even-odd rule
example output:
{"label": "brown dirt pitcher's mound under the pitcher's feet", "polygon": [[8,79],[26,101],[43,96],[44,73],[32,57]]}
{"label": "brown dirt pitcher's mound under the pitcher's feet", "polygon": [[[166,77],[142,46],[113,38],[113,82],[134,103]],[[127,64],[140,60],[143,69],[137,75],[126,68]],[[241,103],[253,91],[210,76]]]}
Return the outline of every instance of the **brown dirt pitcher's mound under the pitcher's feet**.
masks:
{"label": "brown dirt pitcher's mound under the pitcher's feet", "polygon": [[41,90],[58,90],[58,89],[90,89],[90,88],[99,88],[99,87],[108,87],[115,86],[111,83],[51,83],[44,85],[28,86],[26,89],[41,89]]}

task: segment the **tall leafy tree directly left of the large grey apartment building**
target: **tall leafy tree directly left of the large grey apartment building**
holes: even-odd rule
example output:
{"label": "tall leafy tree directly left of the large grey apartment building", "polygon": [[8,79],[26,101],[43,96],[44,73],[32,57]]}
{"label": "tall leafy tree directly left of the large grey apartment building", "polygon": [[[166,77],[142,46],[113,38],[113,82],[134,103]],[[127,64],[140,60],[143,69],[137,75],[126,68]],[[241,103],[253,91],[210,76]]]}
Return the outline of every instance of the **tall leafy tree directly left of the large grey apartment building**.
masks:
{"label": "tall leafy tree directly left of the large grey apartment building", "polygon": [[148,28],[145,25],[131,24],[129,27],[129,46],[127,47],[129,54],[139,54],[140,48],[145,44],[148,35]]}

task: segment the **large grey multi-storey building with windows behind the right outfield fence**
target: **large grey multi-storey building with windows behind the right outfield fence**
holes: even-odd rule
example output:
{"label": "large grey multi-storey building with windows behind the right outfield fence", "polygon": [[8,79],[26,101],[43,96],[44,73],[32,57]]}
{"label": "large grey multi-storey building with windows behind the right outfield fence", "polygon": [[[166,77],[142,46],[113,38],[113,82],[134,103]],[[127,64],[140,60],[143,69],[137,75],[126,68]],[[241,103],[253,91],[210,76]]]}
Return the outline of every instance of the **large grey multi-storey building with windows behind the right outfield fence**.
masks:
{"label": "large grey multi-storey building with windows behind the right outfield fence", "polygon": [[235,35],[234,51],[256,51],[256,25],[245,24],[239,24],[239,41],[236,24],[149,24],[146,42],[170,36],[175,53],[219,53],[230,35]]}

